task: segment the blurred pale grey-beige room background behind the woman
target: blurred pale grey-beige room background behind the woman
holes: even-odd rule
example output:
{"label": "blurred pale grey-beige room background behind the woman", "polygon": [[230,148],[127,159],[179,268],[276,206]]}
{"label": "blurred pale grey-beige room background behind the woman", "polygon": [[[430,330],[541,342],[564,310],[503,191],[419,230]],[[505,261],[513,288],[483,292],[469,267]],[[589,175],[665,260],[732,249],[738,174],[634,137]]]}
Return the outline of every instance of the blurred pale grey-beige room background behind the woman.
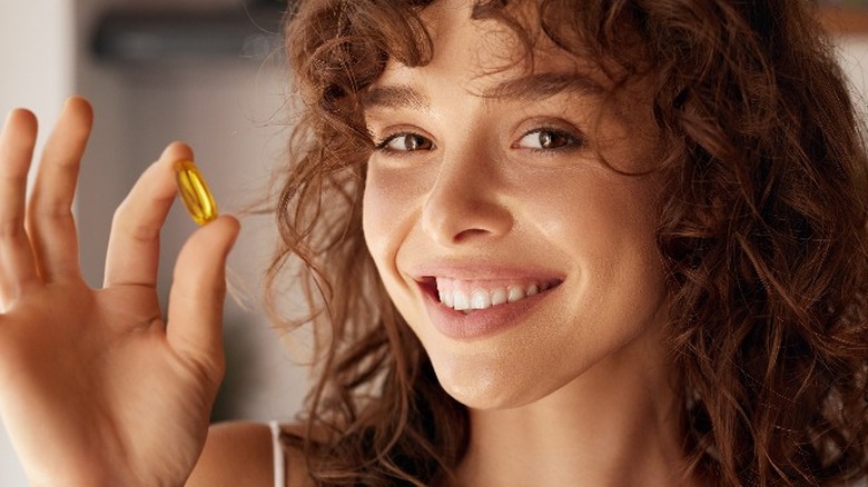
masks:
{"label": "blurred pale grey-beige room background behind the woman", "polygon": [[[868,14],[859,1],[845,3],[829,2],[823,20],[854,90],[866,93]],[[0,0],[0,112],[30,108],[43,141],[69,95],[88,97],[96,110],[76,202],[91,286],[101,282],[115,207],[168,142],[194,147],[223,211],[267,197],[292,122],[285,10],[277,0]],[[230,258],[241,296],[227,304],[228,375],[214,419],[289,420],[306,390],[303,358],[290,350],[303,346],[272,328],[260,304],[272,217],[247,216],[243,226]],[[162,235],[164,296],[194,229],[176,205]],[[0,425],[0,486],[26,485]]]}

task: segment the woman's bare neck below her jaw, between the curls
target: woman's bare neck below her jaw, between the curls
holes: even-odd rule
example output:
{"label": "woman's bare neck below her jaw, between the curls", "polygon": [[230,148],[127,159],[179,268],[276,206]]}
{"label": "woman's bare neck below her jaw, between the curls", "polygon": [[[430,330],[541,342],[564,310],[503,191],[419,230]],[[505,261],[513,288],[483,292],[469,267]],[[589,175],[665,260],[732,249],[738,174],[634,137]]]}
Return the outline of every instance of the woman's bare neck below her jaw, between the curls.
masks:
{"label": "woman's bare neck below her jaw, between the curls", "polygon": [[671,367],[648,351],[622,350],[526,406],[472,409],[460,485],[693,485]]}

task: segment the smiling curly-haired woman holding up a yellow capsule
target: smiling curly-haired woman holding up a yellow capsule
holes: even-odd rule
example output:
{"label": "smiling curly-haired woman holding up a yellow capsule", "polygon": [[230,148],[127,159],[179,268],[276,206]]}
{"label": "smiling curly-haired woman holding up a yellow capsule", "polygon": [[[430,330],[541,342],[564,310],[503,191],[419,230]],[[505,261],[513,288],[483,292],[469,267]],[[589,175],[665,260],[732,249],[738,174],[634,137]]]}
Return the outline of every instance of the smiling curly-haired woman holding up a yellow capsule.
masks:
{"label": "smiling curly-haired woman holding up a yellow capsule", "polygon": [[[306,110],[269,278],[306,264],[322,358],[289,485],[866,475],[865,148],[806,4],[322,0],[287,39]],[[119,210],[107,289],[76,280],[89,117],[67,108],[27,212],[32,116],[2,141],[2,407],[29,475],[279,480],[265,426],[198,455],[234,219],[190,238],[157,318],[188,148]],[[62,320],[33,304],[61,297]]]}

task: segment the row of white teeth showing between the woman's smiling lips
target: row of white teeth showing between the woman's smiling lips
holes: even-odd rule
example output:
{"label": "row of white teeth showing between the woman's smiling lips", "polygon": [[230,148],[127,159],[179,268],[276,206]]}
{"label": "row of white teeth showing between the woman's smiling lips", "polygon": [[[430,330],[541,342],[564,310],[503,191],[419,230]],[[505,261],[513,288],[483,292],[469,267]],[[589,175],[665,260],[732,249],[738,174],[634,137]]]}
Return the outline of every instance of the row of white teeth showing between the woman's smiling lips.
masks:
{"label": "row of white teeth showing between the woman's smiling lips", "polygon": [[494,306],[521,301],[563,282],[561,279],[525,281],[467,281],[442,277],[425,277],[421,285],[426,294],[443,306],[470,314]]}

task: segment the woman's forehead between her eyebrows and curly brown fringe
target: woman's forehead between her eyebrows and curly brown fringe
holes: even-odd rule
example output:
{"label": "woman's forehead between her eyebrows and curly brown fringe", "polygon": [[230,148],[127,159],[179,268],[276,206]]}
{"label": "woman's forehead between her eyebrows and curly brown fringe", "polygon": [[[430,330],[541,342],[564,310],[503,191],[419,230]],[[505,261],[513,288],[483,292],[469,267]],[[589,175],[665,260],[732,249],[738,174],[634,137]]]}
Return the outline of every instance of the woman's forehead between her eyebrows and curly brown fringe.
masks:
{"label": "woman's forehead between her eyebrows and curly brown fringe", "polygon": [[434,80],[448,80],[451,89],[486,100],[533,101],[560,93],[603,99],[611,91],[612,80],[595,60],[570,54],[542,33],[535,10],[507,12],[510,22],[474,19],[473,7],[445,0],[426,8],[422,20],[432,40],[430,62],[408,67],[392,59],[363,93],[363,105],[424,108],[430,100],[423,88]]}

